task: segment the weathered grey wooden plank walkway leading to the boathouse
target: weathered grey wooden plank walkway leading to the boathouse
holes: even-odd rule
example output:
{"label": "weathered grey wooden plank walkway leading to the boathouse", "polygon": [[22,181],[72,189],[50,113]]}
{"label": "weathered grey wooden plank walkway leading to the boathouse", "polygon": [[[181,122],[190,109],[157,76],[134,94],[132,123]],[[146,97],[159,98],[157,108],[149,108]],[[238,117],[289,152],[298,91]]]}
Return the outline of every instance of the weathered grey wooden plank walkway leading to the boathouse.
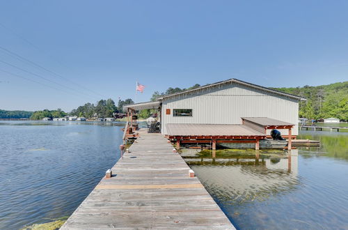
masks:
{"label": "weathered grey wooden plank walkway leading to the boathouse", "polygon": [[235,229],[160,134],[139,132],[61,229]]}

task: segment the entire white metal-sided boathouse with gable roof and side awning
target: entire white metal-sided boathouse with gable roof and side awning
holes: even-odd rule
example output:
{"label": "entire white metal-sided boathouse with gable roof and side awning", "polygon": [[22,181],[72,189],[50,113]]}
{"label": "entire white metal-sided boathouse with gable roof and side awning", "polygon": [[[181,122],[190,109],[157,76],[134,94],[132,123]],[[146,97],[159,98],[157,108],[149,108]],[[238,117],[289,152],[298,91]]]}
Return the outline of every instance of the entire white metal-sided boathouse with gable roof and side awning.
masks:
{"label": "entire white metal-sided boathouse with gable roof and side awning", "polygon": [[258,148],[259,140],[269,137],[271,129],[296,138],[300,100],[306,99],[228,79],[124,109],[129,116],[141,109],[158,109],[161,133],[177,144],[212,141],[214,148],[221,141],[254,141]]}

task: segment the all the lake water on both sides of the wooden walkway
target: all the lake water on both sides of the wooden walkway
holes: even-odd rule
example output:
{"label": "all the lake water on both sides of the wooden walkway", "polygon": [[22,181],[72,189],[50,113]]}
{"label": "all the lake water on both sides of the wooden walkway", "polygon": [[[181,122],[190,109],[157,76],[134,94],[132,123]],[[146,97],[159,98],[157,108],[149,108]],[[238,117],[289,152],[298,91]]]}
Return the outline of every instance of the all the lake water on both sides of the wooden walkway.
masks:
{"label": "all the lake water on both sides of the wooden walkway", "polygon": [[[123,125],[0,122],[0,229],[71,215],[120,158]],[[239,229],[348,229],[348,133],[299,138],[322,146],[185,160]]]}

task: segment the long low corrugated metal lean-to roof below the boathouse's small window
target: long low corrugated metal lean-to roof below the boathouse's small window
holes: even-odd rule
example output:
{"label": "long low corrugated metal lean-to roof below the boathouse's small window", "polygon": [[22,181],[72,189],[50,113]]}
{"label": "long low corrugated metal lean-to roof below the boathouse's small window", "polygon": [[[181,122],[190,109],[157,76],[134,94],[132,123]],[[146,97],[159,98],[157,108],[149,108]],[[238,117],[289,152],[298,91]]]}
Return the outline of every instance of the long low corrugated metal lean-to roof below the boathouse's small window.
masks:
{"label": "long low corrugated metal lean-to roof below the boathouse's small window", "polygon": [[246,125],[167,124],[166,128],[169,136],[265,136]]}

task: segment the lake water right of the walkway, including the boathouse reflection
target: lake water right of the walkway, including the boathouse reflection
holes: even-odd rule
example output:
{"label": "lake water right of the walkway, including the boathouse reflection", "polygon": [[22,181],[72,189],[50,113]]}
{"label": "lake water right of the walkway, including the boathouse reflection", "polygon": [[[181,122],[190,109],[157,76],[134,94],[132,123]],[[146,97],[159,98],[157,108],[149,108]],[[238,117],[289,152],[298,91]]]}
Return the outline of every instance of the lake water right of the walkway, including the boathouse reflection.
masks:
{"label": "lake water right of the walkway, including the boathouse reflection", "polygon": [[322,146],[185,160],[238,229],[348,229],[348,133],[303,131],[299,139]]}

